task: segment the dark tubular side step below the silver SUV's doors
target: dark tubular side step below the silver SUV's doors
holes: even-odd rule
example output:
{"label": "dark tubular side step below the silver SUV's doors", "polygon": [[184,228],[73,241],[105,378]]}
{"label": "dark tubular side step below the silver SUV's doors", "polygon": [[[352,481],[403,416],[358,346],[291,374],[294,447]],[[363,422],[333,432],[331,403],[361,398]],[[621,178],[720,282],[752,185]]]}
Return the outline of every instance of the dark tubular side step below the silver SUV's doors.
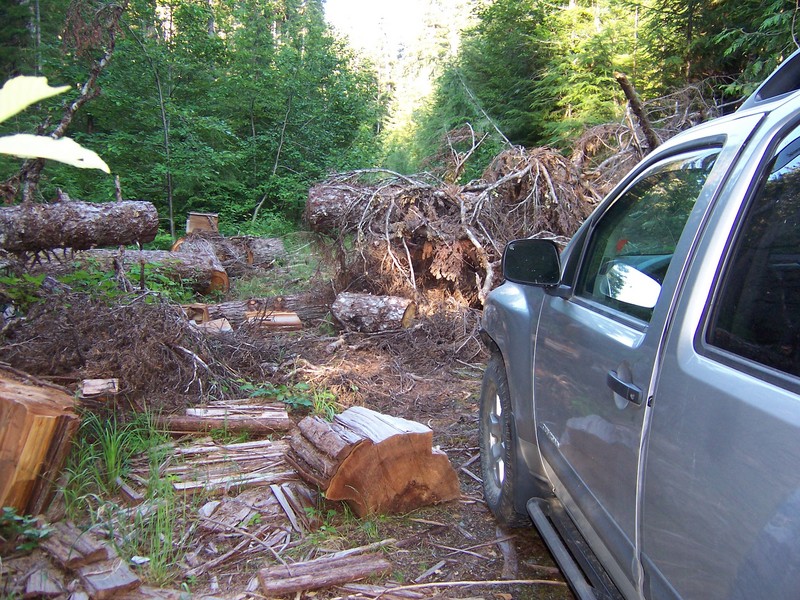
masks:
{"label": "dark tubular side step below the silver SUV's doors", "polygon": [[622,600],[622,594],[557,500],[531,498],[527,508],[579,600]]}

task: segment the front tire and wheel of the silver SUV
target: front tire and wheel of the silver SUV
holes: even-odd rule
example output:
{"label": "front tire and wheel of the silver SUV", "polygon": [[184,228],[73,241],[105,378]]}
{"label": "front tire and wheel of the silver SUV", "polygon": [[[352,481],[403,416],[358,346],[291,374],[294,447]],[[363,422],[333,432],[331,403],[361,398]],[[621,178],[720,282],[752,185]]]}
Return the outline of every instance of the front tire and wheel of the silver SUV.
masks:
{"label": "front tire and wheel of the silver SUV", "polygon": [[503,357],[493,353],[483,374],[478,419],[483,497],[501,525],[530,526],[527,515],[514,507],[518,480],[516,426]]}

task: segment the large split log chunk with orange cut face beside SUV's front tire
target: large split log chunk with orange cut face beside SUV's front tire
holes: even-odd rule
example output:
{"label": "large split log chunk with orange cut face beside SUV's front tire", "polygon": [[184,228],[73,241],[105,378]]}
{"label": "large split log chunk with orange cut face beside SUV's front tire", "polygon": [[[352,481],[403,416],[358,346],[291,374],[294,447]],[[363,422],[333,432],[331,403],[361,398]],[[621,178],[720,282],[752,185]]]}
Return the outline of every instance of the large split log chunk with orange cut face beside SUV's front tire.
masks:
{"label": "large split log chunk with orange cut face beside SUV's front tire", "polygon": [[300,421],[286,461],[359,517],[405,513],[461,495],[447,455],[432,441],[433,432],[421,423],[352,407],[332,423]]}

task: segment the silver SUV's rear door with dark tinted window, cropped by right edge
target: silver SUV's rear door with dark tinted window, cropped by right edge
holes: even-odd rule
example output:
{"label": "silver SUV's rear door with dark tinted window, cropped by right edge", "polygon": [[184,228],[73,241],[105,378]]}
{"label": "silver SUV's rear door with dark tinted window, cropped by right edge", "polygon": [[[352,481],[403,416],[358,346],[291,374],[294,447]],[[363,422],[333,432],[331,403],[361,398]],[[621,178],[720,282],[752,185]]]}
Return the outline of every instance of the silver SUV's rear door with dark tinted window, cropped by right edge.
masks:
{"label": "silver SUV's rear door with dark tinted window, cropped by right edge", "polygon": [[675,310],[648,427],[646,596],[800,594],[796,113],[714,209]]}

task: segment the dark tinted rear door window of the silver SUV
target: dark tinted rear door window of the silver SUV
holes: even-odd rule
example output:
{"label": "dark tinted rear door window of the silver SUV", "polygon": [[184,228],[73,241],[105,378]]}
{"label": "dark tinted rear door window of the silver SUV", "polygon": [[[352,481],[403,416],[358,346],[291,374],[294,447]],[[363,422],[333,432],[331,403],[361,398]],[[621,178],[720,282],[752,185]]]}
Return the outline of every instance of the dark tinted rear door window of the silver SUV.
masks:
{"label": "dark tinted rear door window of the silver SUV", "polygon": [[707,341],[800,375],[800,129],[786,139],[737,234]]}

